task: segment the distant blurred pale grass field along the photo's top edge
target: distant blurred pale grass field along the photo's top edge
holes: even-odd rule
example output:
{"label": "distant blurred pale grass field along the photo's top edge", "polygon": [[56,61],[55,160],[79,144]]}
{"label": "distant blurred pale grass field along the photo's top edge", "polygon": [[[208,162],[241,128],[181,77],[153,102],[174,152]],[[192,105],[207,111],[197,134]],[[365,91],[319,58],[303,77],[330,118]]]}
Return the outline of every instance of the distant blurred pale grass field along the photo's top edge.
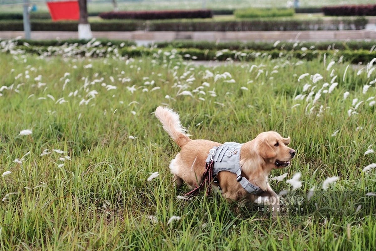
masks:
{"label": "distant blurred pale grass field along the photo's top edge", "polygon": [[[38,11],[47,12],[45,0],[29,0],[36,4]],[[22,12],[23,0],[2,0],[2,12]],[[331,5],[373,4],[373,0],[300,0],[300,7],[320,7]],[[287,0],[117,0],[120,11],[163,10],[163,9],[244,9],[244,8],[286,8]],[[88,11],[112,11],[111,0],[88,1]]]}

